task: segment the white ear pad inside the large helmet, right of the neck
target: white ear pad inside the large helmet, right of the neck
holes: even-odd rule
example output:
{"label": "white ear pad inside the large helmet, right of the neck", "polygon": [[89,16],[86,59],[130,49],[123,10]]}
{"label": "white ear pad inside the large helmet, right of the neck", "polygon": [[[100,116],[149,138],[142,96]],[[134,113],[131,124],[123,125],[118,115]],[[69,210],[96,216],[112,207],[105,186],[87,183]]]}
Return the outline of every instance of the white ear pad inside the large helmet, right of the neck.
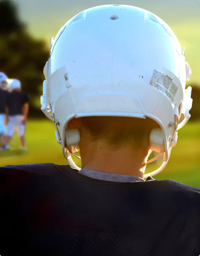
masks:
{"label": "white ear pad inside the large helmet, right of the neck", "polygon": [[163,132],[160,128],[154,128],[149,136],[149,145],[152,151],[161,153],[165,149]]}

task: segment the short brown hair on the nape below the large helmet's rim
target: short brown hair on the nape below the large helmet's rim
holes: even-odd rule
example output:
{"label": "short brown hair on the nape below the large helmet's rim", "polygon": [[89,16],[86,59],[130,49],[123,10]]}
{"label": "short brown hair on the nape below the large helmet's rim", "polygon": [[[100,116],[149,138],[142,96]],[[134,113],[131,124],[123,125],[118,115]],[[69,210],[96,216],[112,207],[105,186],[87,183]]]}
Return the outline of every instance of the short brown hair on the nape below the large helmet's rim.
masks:
{"label": "short brown hair on the nape below the large helmet's rim", "polygon": [[158,124],[150,118],[133,118],[120,116],[81,117],[83,127],[88,130],[91,140],[105,140],[115,149],[122,145],[141,147],[144,139]]}

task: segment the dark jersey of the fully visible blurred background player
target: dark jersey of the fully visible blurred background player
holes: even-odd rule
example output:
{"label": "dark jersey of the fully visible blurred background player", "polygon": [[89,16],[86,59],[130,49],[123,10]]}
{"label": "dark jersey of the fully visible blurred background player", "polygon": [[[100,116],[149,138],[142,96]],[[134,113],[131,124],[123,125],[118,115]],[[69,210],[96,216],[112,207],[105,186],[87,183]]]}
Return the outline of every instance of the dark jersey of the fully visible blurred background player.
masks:
{"label": "dark jersey of the fully visible blurred background player", "polygon": [[29,95],[24,92],[13,91],[8,93],[8,113],[9,115],[22,115],[22,106],[29,101]]}

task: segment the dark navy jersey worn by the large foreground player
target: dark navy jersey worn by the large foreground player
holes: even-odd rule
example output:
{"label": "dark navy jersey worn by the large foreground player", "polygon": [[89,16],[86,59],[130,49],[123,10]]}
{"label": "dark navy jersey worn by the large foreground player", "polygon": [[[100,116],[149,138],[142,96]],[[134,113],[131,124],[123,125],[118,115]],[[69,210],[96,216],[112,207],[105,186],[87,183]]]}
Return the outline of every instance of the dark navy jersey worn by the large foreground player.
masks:
{"label": "dark navy jersey worn by the large foreground player", "polygon": [[6,255],[200,255],[200,189],[171,180],[115,183],[64,165],[6,166],[0,216]]}

